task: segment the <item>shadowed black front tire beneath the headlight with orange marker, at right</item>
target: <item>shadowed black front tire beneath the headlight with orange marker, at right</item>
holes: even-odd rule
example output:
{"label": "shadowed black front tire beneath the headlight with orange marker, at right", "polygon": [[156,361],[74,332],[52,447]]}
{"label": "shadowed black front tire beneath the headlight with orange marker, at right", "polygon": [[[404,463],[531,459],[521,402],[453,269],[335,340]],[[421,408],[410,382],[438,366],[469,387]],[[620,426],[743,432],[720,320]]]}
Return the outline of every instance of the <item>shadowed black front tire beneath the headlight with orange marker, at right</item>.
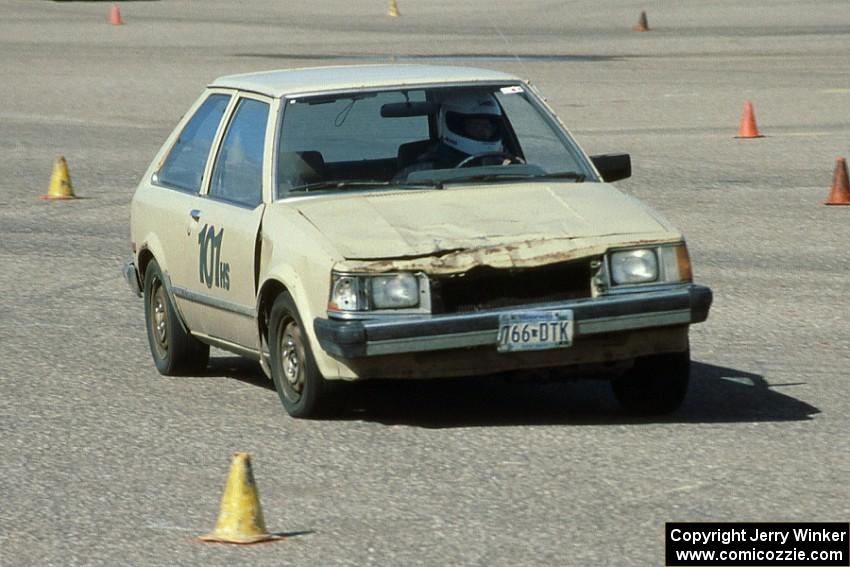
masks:
{"label": "shadowed black front tire beneath the headlight with orange marker, at right", "polygon": [[611,382],[614,396],[628,412],[663,415],[676,411],[688,392],[689,350],[644,356]]}

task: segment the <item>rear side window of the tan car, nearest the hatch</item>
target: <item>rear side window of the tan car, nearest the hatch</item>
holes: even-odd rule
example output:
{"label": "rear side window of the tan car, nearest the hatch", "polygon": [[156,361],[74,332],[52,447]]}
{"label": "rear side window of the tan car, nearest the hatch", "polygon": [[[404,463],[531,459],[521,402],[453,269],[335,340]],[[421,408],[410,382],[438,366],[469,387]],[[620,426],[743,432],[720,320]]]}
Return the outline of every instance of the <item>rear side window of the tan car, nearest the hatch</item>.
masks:
{"label": "rear side window of the tan car, nearest the hatch", "polygon": [[156,175],[156,183],[197,193],[213,138],[230,96],[210,95],[186,123]]}

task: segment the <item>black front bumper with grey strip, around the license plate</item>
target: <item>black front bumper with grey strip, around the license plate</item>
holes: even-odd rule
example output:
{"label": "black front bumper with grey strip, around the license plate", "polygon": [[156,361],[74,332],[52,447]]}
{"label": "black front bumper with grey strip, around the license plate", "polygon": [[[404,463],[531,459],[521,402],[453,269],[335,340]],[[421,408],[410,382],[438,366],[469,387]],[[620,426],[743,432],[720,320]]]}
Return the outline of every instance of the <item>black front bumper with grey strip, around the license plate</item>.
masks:
{"label": "black front bumper with grey strip, around the license plate", "polygon": [[317,318],[313,328],[326,352],[344,358],[360,358],[485,345],[495,347],[499,314],[509,311],[570,309],[575,321],[574,338],[579,339],[604,333],[701,323],[708,318],[711,300],[711,289],[688,284],[474,313],[388,316],[354,321]]}

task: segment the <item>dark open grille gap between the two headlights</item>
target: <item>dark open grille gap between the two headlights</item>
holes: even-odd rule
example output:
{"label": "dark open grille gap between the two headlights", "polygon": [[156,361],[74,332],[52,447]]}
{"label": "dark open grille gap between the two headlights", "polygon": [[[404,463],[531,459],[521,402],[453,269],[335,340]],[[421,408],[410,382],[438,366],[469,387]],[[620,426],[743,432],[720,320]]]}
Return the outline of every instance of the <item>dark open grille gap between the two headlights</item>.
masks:
{"label": "dark open grille gap between the two headlights", "polygon": [[514,305],[590,297],[591,262],[550,264],[536,268],[474,268],[463,274],[431,279],[433,313],[467,313]]}

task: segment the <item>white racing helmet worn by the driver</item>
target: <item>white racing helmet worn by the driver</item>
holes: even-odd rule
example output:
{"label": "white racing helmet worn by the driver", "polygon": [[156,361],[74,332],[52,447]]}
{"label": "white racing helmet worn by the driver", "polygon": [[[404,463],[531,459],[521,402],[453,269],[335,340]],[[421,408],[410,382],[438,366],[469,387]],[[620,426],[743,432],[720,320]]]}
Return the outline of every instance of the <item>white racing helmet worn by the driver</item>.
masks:
{"label": "white racing helmet worn by the driver", "polygon": [[451,93],[440,104],[440,139],[469,155],[501,152],[501,116],[499,104],[488,92]]}

